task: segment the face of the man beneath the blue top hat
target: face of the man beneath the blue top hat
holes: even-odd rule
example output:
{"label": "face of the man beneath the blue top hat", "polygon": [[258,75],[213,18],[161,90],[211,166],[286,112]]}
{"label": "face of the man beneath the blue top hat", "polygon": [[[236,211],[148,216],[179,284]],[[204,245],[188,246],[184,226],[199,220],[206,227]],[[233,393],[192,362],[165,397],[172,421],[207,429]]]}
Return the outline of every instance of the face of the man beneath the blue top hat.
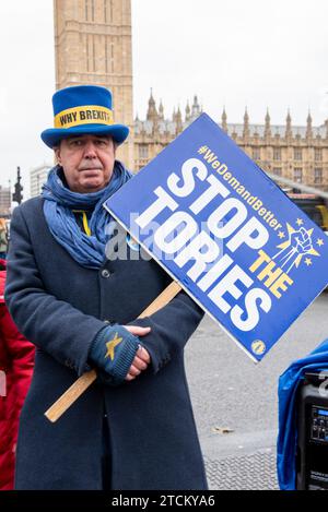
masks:
{"label": "face of the man beneath the blue top hat", "polygon": [[115,164],[115,144],[108,135],[63,139],[55,148],[72,192],[97,192],[108,184]]}

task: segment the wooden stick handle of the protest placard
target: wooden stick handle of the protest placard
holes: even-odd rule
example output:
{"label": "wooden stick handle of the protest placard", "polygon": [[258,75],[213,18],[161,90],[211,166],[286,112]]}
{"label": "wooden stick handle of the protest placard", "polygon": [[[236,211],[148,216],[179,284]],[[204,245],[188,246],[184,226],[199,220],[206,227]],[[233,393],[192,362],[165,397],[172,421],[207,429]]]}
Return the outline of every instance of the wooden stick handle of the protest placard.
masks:
{"label": "wooden stick handle of the protest placard", "polygon": [[[150,317],[164,308],[179,291],[181,287],[175,281],[140,314],[138,318]],[[66,410],[81,396],[84,391],[96,380],[95,370],[83,373],[75,382],[46,410],[45,416],[52,424],[66,413]]]}

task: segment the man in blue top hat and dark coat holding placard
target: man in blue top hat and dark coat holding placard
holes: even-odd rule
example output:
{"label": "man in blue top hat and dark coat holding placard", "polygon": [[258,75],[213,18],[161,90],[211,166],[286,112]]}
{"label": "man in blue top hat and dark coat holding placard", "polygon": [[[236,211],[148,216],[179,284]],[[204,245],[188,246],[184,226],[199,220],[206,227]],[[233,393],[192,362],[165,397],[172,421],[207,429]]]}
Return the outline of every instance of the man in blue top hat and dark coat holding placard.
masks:
{"label": "man in blue top hat and dark coat holding placard", "polygon": [[[131,174],[115,159],[128,128],[98,86],[58,91],[43,197],[11,222],[7,301],[36,346],[20,426],[16,489],[206,489],[184,370],[202,311],[180,293],[139,314],[171,279],[152,260],[110,258],[103,203]],[[106,249],[107,247],[107,249]],[[106,252],[105,252],[106,251]],[[106,253],[106,255],[105,255]],[[58,422],[44,413],[91,368],[98,379]]]}

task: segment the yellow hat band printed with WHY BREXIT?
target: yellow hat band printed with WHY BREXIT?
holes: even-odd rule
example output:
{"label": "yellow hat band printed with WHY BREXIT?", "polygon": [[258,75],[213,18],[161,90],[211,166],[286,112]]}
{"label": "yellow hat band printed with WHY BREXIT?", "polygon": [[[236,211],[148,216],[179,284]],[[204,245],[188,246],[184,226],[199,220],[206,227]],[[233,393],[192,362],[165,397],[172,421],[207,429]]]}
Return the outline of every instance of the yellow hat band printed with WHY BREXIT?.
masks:
{"label": "yellow hat band printed with WHY BREXIT?", "polygon": [[113,110],[97,105],[84,105],[62,110],[55,117],[55,128],[73,128],[81,124],[114,124]]}

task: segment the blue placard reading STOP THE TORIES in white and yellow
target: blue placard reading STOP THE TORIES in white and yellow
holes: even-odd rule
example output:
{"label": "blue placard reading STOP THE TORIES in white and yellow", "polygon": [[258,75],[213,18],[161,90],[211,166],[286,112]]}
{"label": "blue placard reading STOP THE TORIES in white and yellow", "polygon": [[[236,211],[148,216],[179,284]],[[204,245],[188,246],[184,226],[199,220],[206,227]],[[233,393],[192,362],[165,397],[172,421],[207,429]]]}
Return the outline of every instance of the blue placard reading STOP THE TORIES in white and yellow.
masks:
{"label": "blue placard reading STOP THE TORIES in white and yellow", "polygon": [[203,114],[106,203],[256,361],[328,283],[328,238]]}

